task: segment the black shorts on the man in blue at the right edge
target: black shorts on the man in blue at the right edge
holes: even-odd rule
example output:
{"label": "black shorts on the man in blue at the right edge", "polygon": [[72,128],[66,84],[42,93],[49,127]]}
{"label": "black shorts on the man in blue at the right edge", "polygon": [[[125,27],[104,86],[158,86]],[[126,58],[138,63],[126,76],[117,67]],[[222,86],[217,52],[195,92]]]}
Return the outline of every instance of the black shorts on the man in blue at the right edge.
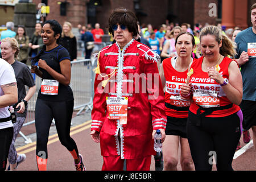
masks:
{"label": "black shorts on the man in blue at the right edge", "polygon": [[242,100],[240,104],[243,113],[243,129],[249,130],[256,126],[256,101]]}

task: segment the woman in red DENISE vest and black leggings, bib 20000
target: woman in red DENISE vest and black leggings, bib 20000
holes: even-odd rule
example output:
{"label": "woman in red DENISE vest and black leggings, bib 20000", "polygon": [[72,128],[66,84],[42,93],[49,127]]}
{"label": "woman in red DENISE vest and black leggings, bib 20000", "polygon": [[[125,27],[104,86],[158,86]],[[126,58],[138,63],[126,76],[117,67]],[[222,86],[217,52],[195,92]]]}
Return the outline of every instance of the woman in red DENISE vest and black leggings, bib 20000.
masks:
{"label": "woman in red DENISE vest and black leggings, bib 20000", "polygon": [[232,41],[216,26],[200,33],[204,56],[189,65],[181,96],[192,99],[187,135],[196,170],[233,170],[232,160],[242,130],[242,76]]}

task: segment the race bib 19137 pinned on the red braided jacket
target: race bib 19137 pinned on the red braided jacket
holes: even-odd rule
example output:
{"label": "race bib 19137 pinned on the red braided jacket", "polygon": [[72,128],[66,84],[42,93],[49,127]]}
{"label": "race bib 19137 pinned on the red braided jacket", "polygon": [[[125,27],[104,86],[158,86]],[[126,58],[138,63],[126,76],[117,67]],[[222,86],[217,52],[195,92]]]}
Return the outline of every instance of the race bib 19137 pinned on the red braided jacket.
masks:
{"label": "race bib 19137 pinned on the red braided jacket", "polygon": [[121,125],[127,124],[128,97],[106,97],[109,119],[119,119]]}

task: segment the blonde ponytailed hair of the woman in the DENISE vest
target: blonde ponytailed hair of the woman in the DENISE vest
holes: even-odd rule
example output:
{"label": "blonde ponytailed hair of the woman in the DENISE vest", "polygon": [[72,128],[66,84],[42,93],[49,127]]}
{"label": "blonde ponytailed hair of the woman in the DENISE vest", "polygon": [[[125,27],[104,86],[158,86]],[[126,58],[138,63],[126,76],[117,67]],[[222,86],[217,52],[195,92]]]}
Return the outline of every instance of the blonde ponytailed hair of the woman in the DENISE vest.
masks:
{"label": "blonde ponytailed hair of the woman in the DENISE vest", "polygon": [[207,26],[204,27],[200,32],[200,42],[201,38],[205,35],[212,35],[218,44],[222,41],[222,46],[220,47],[220,54],[222,56],[232,56],[237,54],[236,45],[228,38],[228,36],[222,34],[222,31],[217,26]]}

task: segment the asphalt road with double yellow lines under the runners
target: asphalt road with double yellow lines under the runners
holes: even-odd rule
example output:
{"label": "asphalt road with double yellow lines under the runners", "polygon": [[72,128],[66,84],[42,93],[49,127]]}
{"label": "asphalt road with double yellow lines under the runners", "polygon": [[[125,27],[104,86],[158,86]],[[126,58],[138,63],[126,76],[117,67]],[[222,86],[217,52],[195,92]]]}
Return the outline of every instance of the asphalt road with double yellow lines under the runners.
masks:
{"label": "asphalt road with double yellow lines under the runners", "polygon": [[[100,144],[94,143],[90,138],[90,111],[82,112],[76,116],[74,113],[71,127],[71,137],[75,140],[80,154],[84,158],[84,164],[88,171],[100,171],[102,167],[102,156],[100,154]],[[36,166],[36,135],[34,126],[26,126],[22,128],[24,134],[32,140],[32,143],[24,143],[22,137],[16,140],[16,150],[19,154],[26,154],[27,159],[21,163],[17,171],[37,171]],[[251,130],[250,134],[252,136]],[[49,171],[75,171],[73,158],[69,151],[61,145],[57,137],[55,126],[51,126],[48,140],[48,163],[47,170]],[[252,140],[246,147],[241,137],[240,153],[244,148],[250,146],[243,154],[236,153],[236,159],[233,159],[233,169],[236,171],[256,171],[256,152],[252,144]],[[228,141],[227,141],[228,142]],[[151,171],[154,171],[154,157],[152,156]],[[181,170],[178,164],[178,170]],[[213,171],[216,166],[213,165]]]}

